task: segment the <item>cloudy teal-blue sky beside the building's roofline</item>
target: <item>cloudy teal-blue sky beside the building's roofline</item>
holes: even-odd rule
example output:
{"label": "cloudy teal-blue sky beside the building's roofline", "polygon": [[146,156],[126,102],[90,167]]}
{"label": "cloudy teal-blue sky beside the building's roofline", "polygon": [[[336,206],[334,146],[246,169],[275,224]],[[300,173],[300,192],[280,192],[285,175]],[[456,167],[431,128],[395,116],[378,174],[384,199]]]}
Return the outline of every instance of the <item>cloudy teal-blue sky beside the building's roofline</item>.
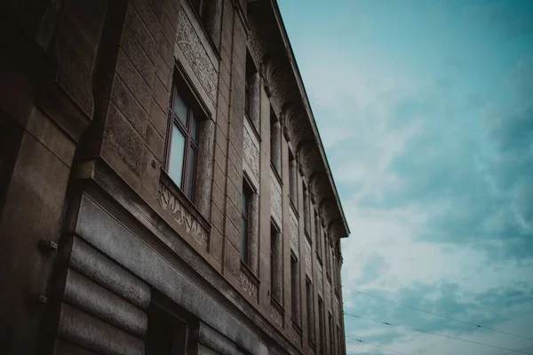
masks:
{"label": "cloudy teal-blue sky beside the building's roofline", "polygon": [[[533,353],[354,291],[533,338],[533,1],[279,5],[352,230],[345,311]],[[508,352],[345,322],[407,354]]]}

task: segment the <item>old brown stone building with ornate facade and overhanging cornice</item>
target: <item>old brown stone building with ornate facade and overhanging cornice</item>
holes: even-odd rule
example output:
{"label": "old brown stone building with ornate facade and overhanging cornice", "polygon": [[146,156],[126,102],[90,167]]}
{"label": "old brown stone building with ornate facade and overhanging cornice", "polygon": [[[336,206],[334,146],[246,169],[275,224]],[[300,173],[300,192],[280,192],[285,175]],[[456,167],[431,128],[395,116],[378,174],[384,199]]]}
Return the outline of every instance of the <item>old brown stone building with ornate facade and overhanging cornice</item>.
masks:
{"label": "old brown stone building with ornate facade and overhanging cornice", "polygon": [[345,354],[349,230],[276,2],[0,6],[0,352]]}

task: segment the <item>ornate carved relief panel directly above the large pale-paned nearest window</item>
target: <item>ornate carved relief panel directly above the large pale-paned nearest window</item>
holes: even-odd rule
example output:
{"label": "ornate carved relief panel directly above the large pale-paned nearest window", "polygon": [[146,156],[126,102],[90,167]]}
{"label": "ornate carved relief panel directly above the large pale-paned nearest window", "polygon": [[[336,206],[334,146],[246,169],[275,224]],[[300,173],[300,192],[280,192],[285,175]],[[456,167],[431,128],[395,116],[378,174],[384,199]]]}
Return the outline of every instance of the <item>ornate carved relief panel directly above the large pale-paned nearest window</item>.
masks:
{"label": "ornate carved relief panel directly above the large pale-paned nearest window", "polygon": [[184,7],[179,9],[177,43],[213,104],[217,102],[217,70],[205,51]]}

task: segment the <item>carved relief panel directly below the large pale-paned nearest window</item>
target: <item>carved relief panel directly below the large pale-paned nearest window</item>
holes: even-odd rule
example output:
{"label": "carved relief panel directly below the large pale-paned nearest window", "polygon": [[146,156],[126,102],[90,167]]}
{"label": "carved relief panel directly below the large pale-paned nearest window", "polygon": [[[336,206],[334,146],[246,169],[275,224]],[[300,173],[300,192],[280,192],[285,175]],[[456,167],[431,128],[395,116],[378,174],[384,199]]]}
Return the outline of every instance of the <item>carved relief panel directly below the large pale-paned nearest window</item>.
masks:
{"label": "carved relief panel directly below the large pale-paned nearest window", "polygon": [[157,201],[165,211],[167,211],[176,223],[185,228],[185,232],[193,237],[204,249],[209,245],[209,233],[195,219],[179,201],[178,197],[172,193],[171,189],[159,182],[159,191],[157,192]]}

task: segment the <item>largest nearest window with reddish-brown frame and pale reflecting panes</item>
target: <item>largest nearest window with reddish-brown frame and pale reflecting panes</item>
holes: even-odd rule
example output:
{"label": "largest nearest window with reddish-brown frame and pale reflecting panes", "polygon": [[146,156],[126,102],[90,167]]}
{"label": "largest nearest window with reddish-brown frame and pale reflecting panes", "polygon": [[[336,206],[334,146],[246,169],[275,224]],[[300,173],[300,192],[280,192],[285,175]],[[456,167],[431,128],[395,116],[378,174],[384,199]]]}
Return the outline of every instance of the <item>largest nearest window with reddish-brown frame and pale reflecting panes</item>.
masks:
{"label": "largest nearest window with reddish-brown frame and pale reflecting panes", "polygon": [[172,181],[192,200],[198,151],[198,120],[176,85],[172,91],[169,114],[171,124],[167,140],[166,169]]}

